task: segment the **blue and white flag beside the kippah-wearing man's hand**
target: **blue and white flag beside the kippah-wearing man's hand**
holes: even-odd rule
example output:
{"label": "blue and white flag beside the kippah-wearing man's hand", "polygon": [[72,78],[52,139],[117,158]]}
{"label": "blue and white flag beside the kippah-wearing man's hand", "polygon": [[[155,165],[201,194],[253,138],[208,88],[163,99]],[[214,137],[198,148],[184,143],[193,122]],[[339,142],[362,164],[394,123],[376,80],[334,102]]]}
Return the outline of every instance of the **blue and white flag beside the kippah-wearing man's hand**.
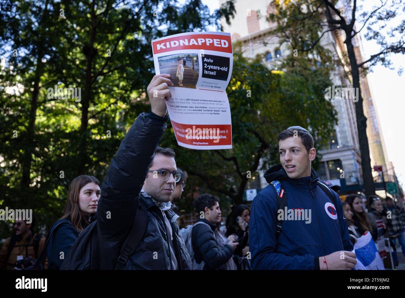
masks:
{"label": "blue and white flag beside the kippah-wearing man's hand", "polygon": [[367,270],[385,270],[379,252],[375,247],[373,237],[369,231],[357,238],[357,242],[354,244],[354,252],[356,253],[356,258]]}

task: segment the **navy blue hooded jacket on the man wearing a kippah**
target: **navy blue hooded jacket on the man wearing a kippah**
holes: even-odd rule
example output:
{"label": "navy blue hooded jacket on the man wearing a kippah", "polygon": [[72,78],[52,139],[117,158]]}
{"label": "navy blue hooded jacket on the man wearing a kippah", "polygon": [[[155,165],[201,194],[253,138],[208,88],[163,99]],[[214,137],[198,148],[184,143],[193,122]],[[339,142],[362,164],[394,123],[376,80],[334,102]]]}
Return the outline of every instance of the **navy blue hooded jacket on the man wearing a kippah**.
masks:
{"label": "navy blue hooded jacket on the man wearing a kippah", "polygon": [[268,183],[281,181],[287,193],[287,209],[304,209],[302,215],[305,209],[307,214],[310,210],[311,222],[284,220],[277,241],[276,192],[272,185],[262,189],[254,198],[249,221],[253,269],[314,270],[319,269],[319,257],[353,250],[340,198],[332,190],[336,197],[336,216],[336,211],[328,208],[333,202],[318,185],[318,174],[313,169],[311,176],[290,179],[279,164],[267,170],[264,178]]}

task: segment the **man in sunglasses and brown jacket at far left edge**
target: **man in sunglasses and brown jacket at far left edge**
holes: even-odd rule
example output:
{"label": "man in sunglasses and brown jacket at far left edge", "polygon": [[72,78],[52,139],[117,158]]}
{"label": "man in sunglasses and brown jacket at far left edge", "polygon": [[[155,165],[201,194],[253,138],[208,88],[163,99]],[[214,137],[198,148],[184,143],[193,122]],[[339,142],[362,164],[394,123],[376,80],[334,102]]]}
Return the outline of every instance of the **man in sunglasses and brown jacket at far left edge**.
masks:
{"label": "man in sunglasses and brown jacket at far left edge", "polygon": [[14,235],[7,238],[0,251],[0,269],[21,270],[31,266],[41,254],[45,237],[34,232],[35,218],[30,223],[24,220],[14,222]]}

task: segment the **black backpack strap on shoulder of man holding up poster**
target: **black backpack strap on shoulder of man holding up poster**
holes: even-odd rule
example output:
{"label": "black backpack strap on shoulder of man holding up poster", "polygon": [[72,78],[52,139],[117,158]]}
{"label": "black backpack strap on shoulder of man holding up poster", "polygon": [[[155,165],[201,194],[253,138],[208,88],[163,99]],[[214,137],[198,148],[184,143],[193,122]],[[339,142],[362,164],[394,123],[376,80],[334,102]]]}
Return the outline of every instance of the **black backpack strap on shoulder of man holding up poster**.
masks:
{"label": "black backpack strap on shoulder of man holding up poster", "polygon": [[131,230],[124,245],[122,245],[121,254],[118,257],[114,270],[122,270],[122,268],[124,268],[129,256],[134,253],[139,243],[141,243],[143,235],[145,235],[148,225],[148,215],[142,200],[140,198],[138,200],[138,208],[135,209],[135,216]]}

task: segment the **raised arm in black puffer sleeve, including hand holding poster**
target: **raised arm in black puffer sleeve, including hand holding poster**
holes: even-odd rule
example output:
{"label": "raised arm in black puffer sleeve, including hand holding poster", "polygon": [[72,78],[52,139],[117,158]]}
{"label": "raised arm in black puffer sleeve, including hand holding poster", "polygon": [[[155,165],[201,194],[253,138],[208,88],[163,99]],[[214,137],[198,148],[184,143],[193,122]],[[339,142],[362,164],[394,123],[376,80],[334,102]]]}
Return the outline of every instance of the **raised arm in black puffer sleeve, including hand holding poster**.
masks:
{"label": "raised arm in black puffer sleeve, including hand holding poster", "polygon": [[151,112],[141,113],[128,130],[107,170],[97,220],[106,240],[125,238],[135,213],[136,197],[147,176],[153,153],[166,130],[170,75],[156,75],[147,88]]}

